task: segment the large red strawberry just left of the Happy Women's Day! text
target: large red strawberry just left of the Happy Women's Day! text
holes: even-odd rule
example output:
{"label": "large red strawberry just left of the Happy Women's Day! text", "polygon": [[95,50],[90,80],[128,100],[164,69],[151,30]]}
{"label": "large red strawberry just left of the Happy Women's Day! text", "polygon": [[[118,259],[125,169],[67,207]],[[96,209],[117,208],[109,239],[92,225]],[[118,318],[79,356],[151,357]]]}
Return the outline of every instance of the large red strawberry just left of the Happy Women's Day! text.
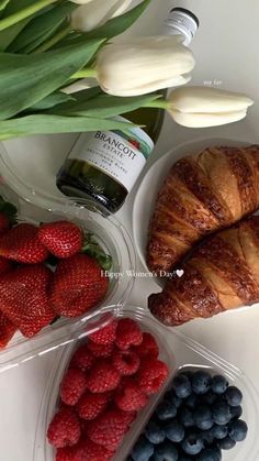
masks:
{"label": "large red strawberry just left of the Happy Women's Day! text", "polygon": [[59,261],[50,296],[54,310],[65,317],[80,316],[104,298],[108,285],[94,259],[76,254]]}

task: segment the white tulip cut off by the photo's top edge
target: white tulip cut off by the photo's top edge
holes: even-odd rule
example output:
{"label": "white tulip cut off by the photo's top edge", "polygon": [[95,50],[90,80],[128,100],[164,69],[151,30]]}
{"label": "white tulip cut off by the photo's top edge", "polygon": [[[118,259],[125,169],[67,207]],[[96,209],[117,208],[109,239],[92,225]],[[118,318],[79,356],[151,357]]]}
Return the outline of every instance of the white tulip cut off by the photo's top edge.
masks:
{"label": "white tulip cut off by the photo's top edge", "polygon": [[[89,32],[122,14],[132,0],[92,0],[82,4],[71,14],[71,28]],[[86,2],[85,2],[86,3]]]}

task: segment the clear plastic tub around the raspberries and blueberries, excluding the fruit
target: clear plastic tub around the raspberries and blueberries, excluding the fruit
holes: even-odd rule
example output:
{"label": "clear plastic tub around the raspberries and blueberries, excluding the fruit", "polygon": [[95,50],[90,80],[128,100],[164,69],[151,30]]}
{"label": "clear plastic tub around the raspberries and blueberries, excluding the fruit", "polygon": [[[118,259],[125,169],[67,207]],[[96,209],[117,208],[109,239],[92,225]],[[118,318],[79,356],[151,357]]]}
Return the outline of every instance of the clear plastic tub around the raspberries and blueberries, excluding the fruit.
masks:
{"label": "clear plastic tub around the raspberries and blueberries, excluding the fruit", "polygon": [[[161,328],[144,308],[124,308],[123,311],[117,310],[116,312],[111,314],[110,319],[114,314],[119,318],[130,317],[136,319],[143,330],[150,331],[156,337],[160,349],[160,358],[168,364],[170,375],[168,383],[164,386],[161,392],[150,398],[148,406],[138,414],[137,419],[133,422],[131,430],[125,436],[119,451],[114,455],[113,461],[126,460],[155,407],[162,398],[166,388],[170,386],[172,376],[182,369],[195,370],[202,367],[211,370],[213,373],[225,375],[229,384],[239,387],[244,394],[243,419],[246,420],[249,428],[248,437],[246,441],[238,443],[237,448],[224,453],[223,461],[244,461],[245,459],[248,459],[248,455],[249,461],[257,461],[259,457],[259,447],[257,443],[259,395],[246,375],[236,366],[226,362],[224,359],[209,351],[206,348],[176,329],[172,330],[167,327]],[[48,444],[46,432],[57,408],[59,385],[75,349],[77,349],[82,341],[86,341],[86,338],[99,327],[100,325],[98,322],[89,322],[87,329],[82,327],[78,331],[79,341],[69,344],[60,351],[57,356],[41,405],[33,461],[55,461],[55,450]]]}

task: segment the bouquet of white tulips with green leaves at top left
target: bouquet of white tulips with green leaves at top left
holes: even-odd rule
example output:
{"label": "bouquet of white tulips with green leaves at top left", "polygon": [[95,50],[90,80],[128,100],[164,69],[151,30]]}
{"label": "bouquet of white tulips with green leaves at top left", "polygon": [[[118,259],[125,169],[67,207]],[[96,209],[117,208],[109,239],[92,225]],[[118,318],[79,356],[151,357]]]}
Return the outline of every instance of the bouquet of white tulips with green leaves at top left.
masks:
{"label": "bouquet of white tulips with green leaves at top left", "polygon": [[[213,88],[182,87],[194,67],[181,36],[122,34],[151,0],[0,0],[0,140],[121,129],[116,116],[168,110],[185,127],[240,120],[252,101]],[[93,78],[89,88],[85,78]]]}

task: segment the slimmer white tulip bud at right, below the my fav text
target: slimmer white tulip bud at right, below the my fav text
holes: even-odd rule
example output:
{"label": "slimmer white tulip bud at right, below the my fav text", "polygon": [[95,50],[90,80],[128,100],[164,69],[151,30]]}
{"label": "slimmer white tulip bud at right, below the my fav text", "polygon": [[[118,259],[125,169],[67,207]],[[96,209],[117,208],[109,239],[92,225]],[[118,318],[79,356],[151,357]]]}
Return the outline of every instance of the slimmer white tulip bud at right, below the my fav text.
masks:
{"label": "slimmer white tulip bud at right, below the my fav text", "polygon": [[169,105],[169,112],[177,123],[190,128],[205,128],[244,119],[254,101],[238,92],[187,87],[172,91]]}

